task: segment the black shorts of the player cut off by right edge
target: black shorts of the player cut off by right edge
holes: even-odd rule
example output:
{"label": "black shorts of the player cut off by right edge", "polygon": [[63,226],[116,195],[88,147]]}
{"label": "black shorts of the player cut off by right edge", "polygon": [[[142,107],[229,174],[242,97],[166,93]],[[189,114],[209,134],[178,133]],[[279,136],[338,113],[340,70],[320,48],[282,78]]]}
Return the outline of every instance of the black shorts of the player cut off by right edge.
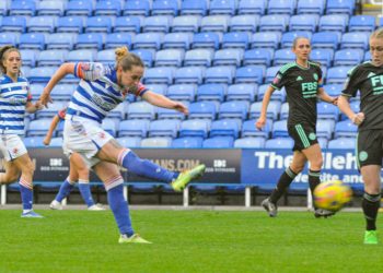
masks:
{"label": "black shorts of the player cut off by right edge", "polygon": [[367,165],[382,166],[383,130],[365,130],[358,133],[356,156],[358,168]]}

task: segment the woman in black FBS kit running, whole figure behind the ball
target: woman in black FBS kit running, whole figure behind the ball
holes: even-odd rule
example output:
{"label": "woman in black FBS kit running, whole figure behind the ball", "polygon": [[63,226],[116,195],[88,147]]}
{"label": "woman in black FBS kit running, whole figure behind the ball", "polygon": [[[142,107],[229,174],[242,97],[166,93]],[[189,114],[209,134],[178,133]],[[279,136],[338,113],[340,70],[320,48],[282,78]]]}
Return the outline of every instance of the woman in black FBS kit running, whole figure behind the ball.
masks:
{"label": "woman in black FBS kit running, whole figure behind the ball", "polygon": [[[288,132],[294,140],[293,158],[290,166],[283,171],[277,187],[269,198],[262,202],[269,216],[277,216],[277,202],[290,186],[295,176],[302,171],[306,162],[310,162],[309,185],[311,192],[321,182],[322,152],[316,139],[316,99],[335,104],[336,97],[330,97],[323,88],[322,70],[318,63],[309,60],[311,44],[307,38],[298,37],[292,45],[297,59],[281,67],[272,83],[266,90],[262,104],[260,117],[256,121],[257,129],[266,123],[267,106],[275,90],[286,87],[289,103]],[[332,212],[315,209],[316,217],[329,216]]]}

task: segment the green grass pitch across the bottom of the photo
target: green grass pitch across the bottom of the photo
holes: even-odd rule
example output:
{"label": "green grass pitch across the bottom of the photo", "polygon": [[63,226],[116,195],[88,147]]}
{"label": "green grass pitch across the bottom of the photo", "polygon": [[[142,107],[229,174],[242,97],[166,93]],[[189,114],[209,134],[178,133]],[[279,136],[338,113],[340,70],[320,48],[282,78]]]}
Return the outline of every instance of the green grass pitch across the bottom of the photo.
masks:
{"label": "green grass pitch across the bottom of the photo", "polygon": [[[37,211],[38,212],[38,211]],[[0,272],[382,272],[361,213],[134,211],[153,245],[118,245],[111,211],[0,211]],[[382,217],[382,215],[381,215]],[[381,228],[383,225],[381,224]]]}

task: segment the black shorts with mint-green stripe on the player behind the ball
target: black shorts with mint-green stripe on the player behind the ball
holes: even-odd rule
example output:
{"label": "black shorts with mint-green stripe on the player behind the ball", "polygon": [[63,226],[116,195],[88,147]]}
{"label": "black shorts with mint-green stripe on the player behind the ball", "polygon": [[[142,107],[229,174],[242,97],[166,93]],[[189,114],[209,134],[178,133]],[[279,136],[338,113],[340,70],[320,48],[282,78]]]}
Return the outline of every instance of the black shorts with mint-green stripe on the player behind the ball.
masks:
{"label": "black shorts with mint-green stripe on the player behind the ball", "polygon": [[289,135],[294,140],[292,151],[302,151],[317,143],[316,128],[298,123],[288,127]]}

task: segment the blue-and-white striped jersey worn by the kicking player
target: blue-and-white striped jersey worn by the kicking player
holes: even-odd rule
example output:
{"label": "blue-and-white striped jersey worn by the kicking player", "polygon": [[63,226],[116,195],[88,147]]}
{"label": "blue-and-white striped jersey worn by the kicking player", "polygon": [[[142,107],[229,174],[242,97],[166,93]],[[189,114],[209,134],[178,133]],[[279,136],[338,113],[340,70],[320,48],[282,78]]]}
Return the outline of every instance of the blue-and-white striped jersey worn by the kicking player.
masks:
{"label": "blue-and-white striped jersey worn by the kicking player", "polygon": [[79,86],[69,103],[67,114],[92,119],[97,122],[123,103],[128,94],[142,96],[148,88],[139,83],[135,88],[123,88],[117,84],[117,71],[98,62],[79,62],[74,75],[80,78]]}

